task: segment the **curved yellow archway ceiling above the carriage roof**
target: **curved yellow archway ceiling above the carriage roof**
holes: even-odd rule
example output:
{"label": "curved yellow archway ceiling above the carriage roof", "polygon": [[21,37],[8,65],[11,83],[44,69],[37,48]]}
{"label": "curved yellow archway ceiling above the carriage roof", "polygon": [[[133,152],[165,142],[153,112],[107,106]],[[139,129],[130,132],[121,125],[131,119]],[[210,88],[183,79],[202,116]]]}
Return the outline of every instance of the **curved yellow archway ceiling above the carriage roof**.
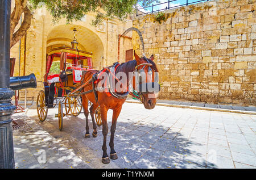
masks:
{"label": "curved yellow archway ceiling above the carriage roof", "polygon": [[66,24],[54,27],[47,37],[47,47],[49,45],[60,44],[60,41],[63,41],[64,39],[64,41],[73,39],[74,28],[77,30],[76,39],[81,47],[85,48],[85,51],[92,53],[95,53],[96,51],[103,51],[102,42],[93,31],[75,24]]}

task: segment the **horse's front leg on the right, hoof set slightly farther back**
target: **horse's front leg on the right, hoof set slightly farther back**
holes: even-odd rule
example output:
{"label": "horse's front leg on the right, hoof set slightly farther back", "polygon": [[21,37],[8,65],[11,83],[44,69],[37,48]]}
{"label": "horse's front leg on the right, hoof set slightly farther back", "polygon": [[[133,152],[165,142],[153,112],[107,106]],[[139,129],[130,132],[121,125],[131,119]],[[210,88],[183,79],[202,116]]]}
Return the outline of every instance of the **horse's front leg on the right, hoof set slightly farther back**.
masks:
{"label": "horse's front leg on the right, hoof set slightly farther back", "polygon": [[110,158],[112,160],[116,160],[118,158],[117,153],[114,150],[114,134],[115,134],[115,127],[117,125],[117,118],[121,112],[122,106],[113,110],[113,116],[112,116],[112,125],[110,128],[111,136],[109,141],[110,146]]}

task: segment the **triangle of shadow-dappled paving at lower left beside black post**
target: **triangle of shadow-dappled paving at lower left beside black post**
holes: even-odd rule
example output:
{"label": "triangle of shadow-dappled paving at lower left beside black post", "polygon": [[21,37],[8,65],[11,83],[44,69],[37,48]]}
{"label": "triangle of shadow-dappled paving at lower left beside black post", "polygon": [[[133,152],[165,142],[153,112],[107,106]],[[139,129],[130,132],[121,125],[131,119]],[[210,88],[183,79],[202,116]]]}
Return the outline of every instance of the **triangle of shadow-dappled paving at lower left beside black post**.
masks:
{"label": "triangle of shadow-dappled paving at lower left beside black post", "polygon": [[24,122],[13,131],[15,168],[90,168],[60,140],[44,131],[24,113],[14,114],[15,121]]}

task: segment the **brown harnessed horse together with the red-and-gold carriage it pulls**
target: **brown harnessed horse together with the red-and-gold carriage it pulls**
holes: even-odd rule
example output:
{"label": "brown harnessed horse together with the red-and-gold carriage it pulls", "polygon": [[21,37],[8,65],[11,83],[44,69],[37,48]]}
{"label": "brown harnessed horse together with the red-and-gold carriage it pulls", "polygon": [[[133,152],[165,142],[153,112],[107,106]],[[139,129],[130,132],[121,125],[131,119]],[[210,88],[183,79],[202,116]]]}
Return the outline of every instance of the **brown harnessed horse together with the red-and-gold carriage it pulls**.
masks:
{"label": "brown harnessed horse together with the red-and-gold carriage it pulls", "polygon": [[[92,69],[92,53],[79,51],[77,48],[73,48],[73,44],[72,48],[51,49],[46,62],[44,91],[39,92],[36,101],[38,117],[41,121],[46,119],[48,108],[54,108],[59,104],[59,112],[55,116],[59,118],[60,130],[63,128],[63,116],[77,116],[81,113],[82,107],[86,120],[85,138],[90,137],[89,114],[93,123],[93,137],[97,137],[95,120],[98,125],[102,124],[102,163],[104,164],[108,164],[110,158],[112,160],[118,158],[114,150],[114,133],[118,116],[127,95],[130,94],[139,99],[145,108],[152,109],[155,107],[156,96],[160,90],[158,69],[154,63],[154,56],[145,57],[141,32],[137,28],[131,27],[120,37],[129,31],[138,33],[142,43],[143,57],[139,57],[134,51],[135,60],[122,64],[115,62],[112,66],[105,67],[102,70]],[[72,42],[77,44],[75,37]],[[60,60],[60,68],[57,73],[51,74],[49,73],[50,68],[55,60]],[[123,74],[122,79],[119,79],[120,77],[117,74]],[[132,74],[132,76],[129,76],[129,74]],[[90,111],[88,110],[88,102],[92,103],[89,108]],[[63,104],[65,114],[63,113]],[[107,114],[109,109],[113,110],[110,127],[110,158],[106,152]]]}

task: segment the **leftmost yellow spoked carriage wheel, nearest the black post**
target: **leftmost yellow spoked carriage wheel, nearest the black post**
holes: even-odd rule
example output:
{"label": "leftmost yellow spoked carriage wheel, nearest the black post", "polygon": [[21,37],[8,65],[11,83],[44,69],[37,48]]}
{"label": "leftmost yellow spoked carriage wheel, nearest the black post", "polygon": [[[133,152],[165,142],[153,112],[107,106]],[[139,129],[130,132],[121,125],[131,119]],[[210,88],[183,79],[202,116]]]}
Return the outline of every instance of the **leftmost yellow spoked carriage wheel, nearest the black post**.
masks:
{"label": "leftmost yellow spoked carriage wheel, nearest the black post", "polygon": [[36,98],[36,110],[38,111],[38,118],[40,121],[46,120],[48,108],[46,107],[46,94],[40,90]]}

